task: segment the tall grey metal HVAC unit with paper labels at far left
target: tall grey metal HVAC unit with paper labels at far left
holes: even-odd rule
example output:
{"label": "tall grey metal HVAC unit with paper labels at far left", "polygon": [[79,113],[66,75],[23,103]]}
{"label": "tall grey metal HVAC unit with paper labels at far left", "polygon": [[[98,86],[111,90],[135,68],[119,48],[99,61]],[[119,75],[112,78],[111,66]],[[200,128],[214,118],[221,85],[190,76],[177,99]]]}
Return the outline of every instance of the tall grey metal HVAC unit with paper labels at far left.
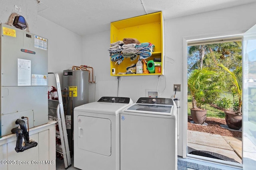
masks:
{"label": "tall grey metal HVAC unit with paper labels at far left", "polygon": [[15,121],[29,127],[48,123],[48,40],[0,23],[0,136],[11,134]]}

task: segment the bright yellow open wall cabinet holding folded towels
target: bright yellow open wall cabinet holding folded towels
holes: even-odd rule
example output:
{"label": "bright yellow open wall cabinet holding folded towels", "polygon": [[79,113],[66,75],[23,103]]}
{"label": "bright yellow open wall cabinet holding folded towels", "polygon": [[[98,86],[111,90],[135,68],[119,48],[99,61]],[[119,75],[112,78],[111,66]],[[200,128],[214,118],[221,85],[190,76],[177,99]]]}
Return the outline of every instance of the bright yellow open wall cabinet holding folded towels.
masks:
{"label": "bright yellow open wall cabinet holding folded towels", "polygon": [[[126,68],[131,64],[136,64],[138,58],[130,61],[124,58],[119,65],[110,59],[111,76],[146,76],[146,75],[163,75],[164,74],[164,44],[163,44],[163,18],[162,12],[156,12],[125,20],[115,21],[110,24],[110,43],[122,41],[124,38],[136,38],[140,43],[154,44],[154,52],[146,61],[161,59],[161,72],[148,74],[118,74],[126,72]],[[114,69],[113,69],[114,68]],[[112,73],[115,70],[115,73]]]}

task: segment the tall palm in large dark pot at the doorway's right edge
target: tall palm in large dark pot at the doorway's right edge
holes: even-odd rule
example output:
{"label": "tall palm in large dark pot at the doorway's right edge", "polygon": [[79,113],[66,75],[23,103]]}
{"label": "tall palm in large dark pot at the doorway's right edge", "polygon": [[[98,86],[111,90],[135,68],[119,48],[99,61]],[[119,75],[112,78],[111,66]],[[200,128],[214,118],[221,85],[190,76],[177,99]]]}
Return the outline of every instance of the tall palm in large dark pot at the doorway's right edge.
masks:
{"label": "tall palm in large dark pot at the doorway's right edge", "polygon": [[242,127],[242,68],[238,68],[237,72],[232,72],[223,64],[218,64],[218,66],[222,67],[230,75],[233,84],[232,93],[238,98],[236,101],[237,106],[234,107],[233,111],[224,111],[225,120],[230,129],[239,130]]}

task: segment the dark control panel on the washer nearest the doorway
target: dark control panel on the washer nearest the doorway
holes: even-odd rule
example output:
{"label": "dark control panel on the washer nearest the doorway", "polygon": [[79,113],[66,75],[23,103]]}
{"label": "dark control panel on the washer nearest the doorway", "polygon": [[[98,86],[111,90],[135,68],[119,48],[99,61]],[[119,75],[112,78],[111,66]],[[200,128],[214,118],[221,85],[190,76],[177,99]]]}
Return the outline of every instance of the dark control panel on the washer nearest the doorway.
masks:
{"label": "dark control panel on the washer nearest the doorway", "polygon": [[139,98],[136,103],[173,105],[173,100],[169,98]]}

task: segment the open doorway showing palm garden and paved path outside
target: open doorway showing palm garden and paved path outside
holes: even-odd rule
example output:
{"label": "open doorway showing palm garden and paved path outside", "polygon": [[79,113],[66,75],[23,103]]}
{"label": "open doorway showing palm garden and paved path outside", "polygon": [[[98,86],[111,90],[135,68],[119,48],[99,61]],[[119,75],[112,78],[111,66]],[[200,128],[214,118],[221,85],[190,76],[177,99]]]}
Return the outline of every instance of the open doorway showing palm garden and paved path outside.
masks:
{"label": "open doorway showing palm garden and paved path outside", "polygon": [[[242,107],[242,37],[191,41],[187,49],[188,156],[241,164],[242,128],[227,125],[224,111]],[[206,113],[195,116],[192,107]]]}

